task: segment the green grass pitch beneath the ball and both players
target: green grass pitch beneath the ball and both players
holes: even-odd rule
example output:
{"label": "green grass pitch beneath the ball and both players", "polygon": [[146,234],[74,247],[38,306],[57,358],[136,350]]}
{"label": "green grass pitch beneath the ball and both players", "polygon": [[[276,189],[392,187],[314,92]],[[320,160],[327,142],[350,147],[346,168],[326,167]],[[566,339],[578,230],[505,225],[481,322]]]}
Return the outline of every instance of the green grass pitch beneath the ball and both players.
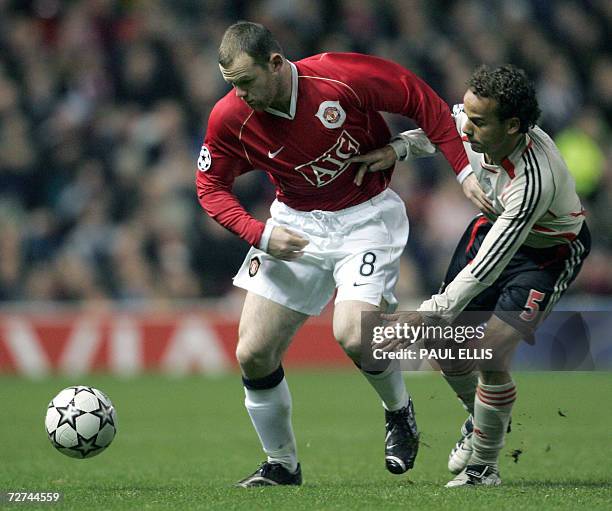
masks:
{"label": "green grass pitch beneath the ball and both players", "polygon": [[[0,491],[60,491],[63,502],[37,507],[78,510],[612,509],[612,375],[515,379],[500,488],[443,488],[464,414],[439,375],[406,378],[423,443],[414,470],[394,476],[384,468],[382,409],[365,380],[356,371],[290,371],[304,485],[243,490],[232,483],[263,457],[237,375],[2,377]],[[73,384],[101,388],[118,412],[113,445],[89,460],[59,454],[44,431],[48,401]]]}

